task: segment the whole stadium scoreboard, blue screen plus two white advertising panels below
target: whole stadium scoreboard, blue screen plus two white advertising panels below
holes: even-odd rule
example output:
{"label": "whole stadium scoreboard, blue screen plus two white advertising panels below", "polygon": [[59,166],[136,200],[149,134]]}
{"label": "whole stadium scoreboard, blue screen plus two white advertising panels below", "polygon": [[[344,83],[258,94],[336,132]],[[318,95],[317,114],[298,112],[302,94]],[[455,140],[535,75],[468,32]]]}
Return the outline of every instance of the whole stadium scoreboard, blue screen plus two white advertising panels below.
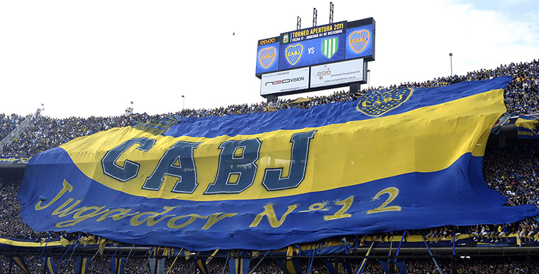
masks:
{"label": "whole stadium scoreboard, blue screen plus two white advertising panels below", "polygon": [[374,60],[373,18],[294,30],[257,45],[260,95],[279,96],[366,83]]}

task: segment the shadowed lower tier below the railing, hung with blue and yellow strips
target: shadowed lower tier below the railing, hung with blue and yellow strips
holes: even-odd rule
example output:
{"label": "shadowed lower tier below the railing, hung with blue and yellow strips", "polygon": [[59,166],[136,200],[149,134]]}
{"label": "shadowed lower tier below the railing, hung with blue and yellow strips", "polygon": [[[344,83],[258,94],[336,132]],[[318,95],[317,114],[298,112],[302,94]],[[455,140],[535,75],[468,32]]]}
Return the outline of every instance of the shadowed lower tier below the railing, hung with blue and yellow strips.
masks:
{"label": "shadowed lower tier below the railing, hung with blue and yellow strips", "polygon": [[[435,251],[435,248],[433,248]],[[379,252],[379,253],[382,253]],[[119,255],[118,255],[119,254]],[[157,256],[155,253],[25,253],[0,256],[2,273],[538,273],[537,253],[473,256],[264,256],[231,259],[184,256]],[[395,258],[397,258],[395,260]],[[238,262],[239,263],[235,263]],[[198,268],[197,262],[204,267]],[[294,266],[285,272],[283,266]],[[230,267],[232,266],[232,267]],[[335,266],[337,268],[335,269]],[[237,268],[236,268],[237,267]],[[393,269],[391,269],[391,267]],[[204,270],[201,270],[204,269]]]}

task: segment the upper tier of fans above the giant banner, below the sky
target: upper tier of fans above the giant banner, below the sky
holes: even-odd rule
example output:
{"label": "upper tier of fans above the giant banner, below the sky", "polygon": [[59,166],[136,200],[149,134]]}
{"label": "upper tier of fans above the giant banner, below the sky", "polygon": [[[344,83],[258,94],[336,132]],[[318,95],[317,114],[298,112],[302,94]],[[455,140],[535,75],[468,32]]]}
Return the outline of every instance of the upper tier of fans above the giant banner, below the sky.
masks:
{"label": "upper tier of fans above the giant banner, below the sky", "polygon": [[[425,81],[423,83],[407,82],[387,87],[371,87],[362,93],[376,89],[395,89],[404,87],[430,88],[445,86],[462,81],[478,81],[492,79],[498,76],[511,75],[513,81],[507,86],[505,103],[508,113],[533,114],[539,113],[539,60],[500,65],[496,69],[481,69],[468,72],[466,75],[449,76]],[[266,103],[252,105],[238,104],[227,107],[199,110],[182,110],[172,115],[182,117],[201,118],[211,115],[223,116],[231,114],[260,113],[264,111],[280,110],[284,108],[310,108],[313,105],[336,103],[355,100],[361,94],[351,94],[345,91],[333,93],[330,96],[306,98],[304,100],[280,100],[277,108],[268,107]],[[56,119],[42,115],[33,115],[30,126],[23,130],[22,134],[13,139],[9,144],[0,147],[1,157],[28,157],[39,152],[57,147],[76,137],[91,135],[94,132],[108,130],[112,127],[126,127],[137,125],[141,122],[160,120],[171,114],[147,115],[133,114],[116,117],[90,117],[90,118],[65,118]],[[0,139],[4,139],[11,131],[23,122],[25,118],[19,115],[0,114]]]}

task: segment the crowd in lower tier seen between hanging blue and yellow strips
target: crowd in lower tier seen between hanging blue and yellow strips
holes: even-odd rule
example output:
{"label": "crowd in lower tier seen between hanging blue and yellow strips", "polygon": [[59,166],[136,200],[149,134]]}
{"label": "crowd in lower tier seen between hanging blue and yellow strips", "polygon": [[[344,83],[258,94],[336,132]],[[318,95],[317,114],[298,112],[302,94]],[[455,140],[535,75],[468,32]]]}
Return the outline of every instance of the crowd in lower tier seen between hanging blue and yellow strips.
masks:
{"label": "crowd in lower tier seen between hanging blue and yellow strips", "polygon": [[[59,273],[74,274],[75,273],[75,260],[73,256],[71,258],[62,258],[61,256],[52,256],[55,263],[57,263],[57,270]],[[60,261],[60,258],[62,260]],[[112,273],[109,256],[94,256],[89,264],[88,273]],[[42,273],[45,264],[42,260],[38,260],[38,256],[25,256],[26,264],[30,270],[30,273]],[[362,262],[361,259],[349,260],[350,267],[353,270],[357,269]],[[384,260],[385,261],[385,260]],[[443,273],[452,273],[452,261],[447,258],[439,258],[437,261],[438,266]],[[8,273],[10,265],[10,258],[7,256],[0,256],[0,267],[4,270],[4,273]],[[404,260],[404,267],[406,273],[409,274],[434,274],[440,273],[438,266],[434,261],[429,258],[411,258]],[[456,273],[459,274],[521,274],[521,273],[538,273],[539,263],[535,260],[528,263],[526,258],[522,257],[479,257],[479,258],[457,258],[455,260]],[[277,263],[270,259],[265,258],[259,263],[259,260],[252,260],[250,263],[250,269],[252,274],[280,274],[282,268]],[[301,273],[307,273],[309,269],[309,262],[307,260],[301,260]],[[530,272],[528,270],[531,269]],[[191,274],[196,272],[193,261],[185,261],[183,258],[174,261],[174,257],[165,259],[165,273],[170,270],[170,274]],[[223,258],[216,258],[208,263],[209,273],[223,273],[230,274],[228,264]],[[23,274],[23,270],[18,268],[15,263],[11,265],[11,273]],[[150,273],[150,263],[147,257],[137,256],[128,257],[124,265],[124,273]],[[312,274],[328,274],[330,273],[328,268],[321,260],[315,260],[311,265],[309,273]],[[384,273],[382,266],[374,259],[368,260],[363,270],[365,274],[379,274]],[[399,270],[396,270],[399,273]]]}

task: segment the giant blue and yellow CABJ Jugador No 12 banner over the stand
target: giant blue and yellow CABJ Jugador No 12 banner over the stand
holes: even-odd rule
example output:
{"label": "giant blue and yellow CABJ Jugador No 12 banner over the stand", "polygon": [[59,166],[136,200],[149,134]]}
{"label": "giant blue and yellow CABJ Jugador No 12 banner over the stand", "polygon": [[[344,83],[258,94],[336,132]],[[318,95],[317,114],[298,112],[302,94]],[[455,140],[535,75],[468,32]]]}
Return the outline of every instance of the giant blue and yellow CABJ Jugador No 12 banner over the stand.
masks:
{"label": "giant blue and yellow CABJ Jugador No 12 banner over the stand", "polygon": [[482,176],[509,81],[97,132],[30,160],[21,216],[37,231],[196,251],[516,222],[537,207],[504,207]]}

